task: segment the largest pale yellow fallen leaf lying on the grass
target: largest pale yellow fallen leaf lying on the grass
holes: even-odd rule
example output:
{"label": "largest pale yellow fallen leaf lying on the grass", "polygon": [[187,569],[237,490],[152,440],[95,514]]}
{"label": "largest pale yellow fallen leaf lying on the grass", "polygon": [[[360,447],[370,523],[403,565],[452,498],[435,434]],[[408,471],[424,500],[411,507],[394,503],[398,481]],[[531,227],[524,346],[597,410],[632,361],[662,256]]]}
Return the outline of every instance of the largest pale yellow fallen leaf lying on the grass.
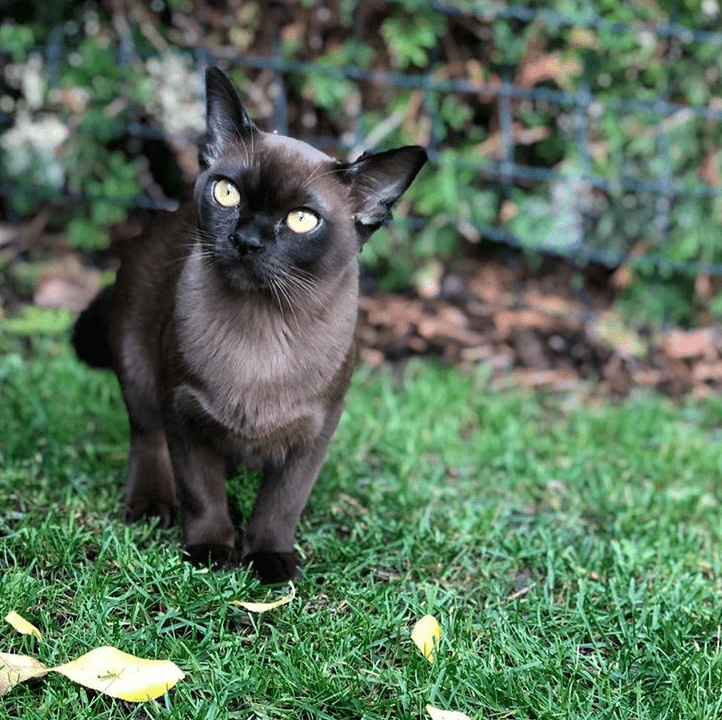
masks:
{"label": "largest pale yellow fallen leaf lying on the grass", "polygon": [[185,677],[170,660],[146,660],[113,647],[96,648],[53,670],[85,687],[131,702],[160,697]]}

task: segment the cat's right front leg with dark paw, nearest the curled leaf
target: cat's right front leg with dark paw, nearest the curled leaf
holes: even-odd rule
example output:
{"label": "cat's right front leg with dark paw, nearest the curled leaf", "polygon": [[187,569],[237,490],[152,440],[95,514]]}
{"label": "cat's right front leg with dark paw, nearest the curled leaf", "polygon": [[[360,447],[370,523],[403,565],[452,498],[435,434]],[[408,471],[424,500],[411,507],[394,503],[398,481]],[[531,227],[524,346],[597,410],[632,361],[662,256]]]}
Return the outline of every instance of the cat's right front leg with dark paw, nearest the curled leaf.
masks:
{"label": "cat's right front leg with dark paw, nearest the curled leaf", "polygon": [[264,583],[298,575],[300,560],[293,549],[298,520],[321,469],[342,406],[328,412],[321,433],[292,447],[283,462],[268,460],[243,535],[242,562],[250,564]]}

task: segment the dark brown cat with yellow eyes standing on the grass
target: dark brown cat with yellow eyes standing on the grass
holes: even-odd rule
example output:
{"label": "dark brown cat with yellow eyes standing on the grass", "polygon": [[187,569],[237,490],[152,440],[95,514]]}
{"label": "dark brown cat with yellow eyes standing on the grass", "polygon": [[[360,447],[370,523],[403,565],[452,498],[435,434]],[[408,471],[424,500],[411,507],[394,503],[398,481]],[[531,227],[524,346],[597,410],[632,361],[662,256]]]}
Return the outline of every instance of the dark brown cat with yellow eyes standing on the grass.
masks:
{"label": "dark brown cat with yellow eyes standing on the grass", "polygon": [[[294,535],[355,364],[357,254],[427,159],[419,146],[340,162],[258,129],[206,72],[193,199],[145,229],[73,329],[128,411],[125,520],[177,505],[196,564],[296,577]],[[241,547],[225,483],[262,471]]]}

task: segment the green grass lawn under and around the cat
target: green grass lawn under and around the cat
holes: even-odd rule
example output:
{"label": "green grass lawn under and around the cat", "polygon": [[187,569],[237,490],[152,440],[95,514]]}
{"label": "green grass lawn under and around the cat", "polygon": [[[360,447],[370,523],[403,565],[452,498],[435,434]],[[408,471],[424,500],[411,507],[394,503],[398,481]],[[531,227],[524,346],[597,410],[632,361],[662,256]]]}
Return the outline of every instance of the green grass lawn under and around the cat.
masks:
{"label": "green grass lawn under and around the cat", "polygon": [[[126,527],[112,377],[64,343],[0,357],[0,650],[99,645],[186,679],[129,705],[51,675],[0,718],[716,718],[722,714],[722,401],[494,392],[431,364],[361,370],[298,533],[290,605]],[[253,489],[235,483],[247,513]],[[434,614],[429,664],[410,640]]]}

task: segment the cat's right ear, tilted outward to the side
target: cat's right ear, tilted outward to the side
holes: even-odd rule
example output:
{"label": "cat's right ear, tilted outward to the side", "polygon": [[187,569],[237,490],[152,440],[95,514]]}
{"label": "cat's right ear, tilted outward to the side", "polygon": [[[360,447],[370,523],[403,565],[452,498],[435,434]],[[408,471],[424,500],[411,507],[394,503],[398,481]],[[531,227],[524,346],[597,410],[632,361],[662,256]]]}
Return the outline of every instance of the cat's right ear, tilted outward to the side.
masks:
{"label": "cat's right ear, tilted outward to the side", "polygon": [[364,154],[344,167],[342,177],[351,185],[356,204],[354,220],[362,242],[391,217],[391,206],[411,185],[426,159],[424,148],[410,145]]}

